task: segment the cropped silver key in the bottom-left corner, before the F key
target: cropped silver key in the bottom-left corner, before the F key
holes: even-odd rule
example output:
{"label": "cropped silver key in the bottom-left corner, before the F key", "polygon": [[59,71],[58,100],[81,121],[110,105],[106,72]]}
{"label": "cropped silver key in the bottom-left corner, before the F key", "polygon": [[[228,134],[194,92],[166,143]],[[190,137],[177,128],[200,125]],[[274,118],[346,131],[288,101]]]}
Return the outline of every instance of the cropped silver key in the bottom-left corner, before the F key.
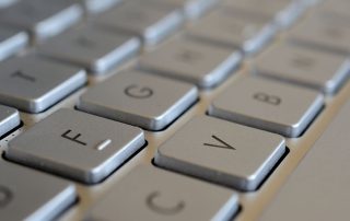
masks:
{"label": "cropped silver key in the bottom-left corner, before the F key", "polygon": [[74,185],[0,161],[0,219],[52,220],[75,201]]}

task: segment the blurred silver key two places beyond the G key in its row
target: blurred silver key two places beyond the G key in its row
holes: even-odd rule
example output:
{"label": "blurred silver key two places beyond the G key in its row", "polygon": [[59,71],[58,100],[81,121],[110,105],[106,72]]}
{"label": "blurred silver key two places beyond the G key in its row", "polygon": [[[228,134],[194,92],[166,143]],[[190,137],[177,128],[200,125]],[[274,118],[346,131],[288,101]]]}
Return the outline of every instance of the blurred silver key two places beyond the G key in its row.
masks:
{"label": "blurred silver key two places beyond the G key in its row", "polygon": [[276,28],[267,21],[241,16],[226,9],[215,10],[188,30],[188,35],[197,39],[241,48],[248,55],[260,50],[275,33]]}

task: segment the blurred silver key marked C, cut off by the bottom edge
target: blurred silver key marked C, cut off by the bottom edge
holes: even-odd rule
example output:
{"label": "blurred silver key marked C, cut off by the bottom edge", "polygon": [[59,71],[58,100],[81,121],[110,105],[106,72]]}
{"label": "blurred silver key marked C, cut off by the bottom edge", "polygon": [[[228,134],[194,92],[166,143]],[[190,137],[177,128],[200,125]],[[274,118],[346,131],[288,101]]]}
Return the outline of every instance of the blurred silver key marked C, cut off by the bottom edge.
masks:
{"label": "blurred silver key marked C, cut off by the bottom edge", "polygon": [[139,166],[92,209],[88,220],[231,220],[237,203],[237,194],[226,188]]}

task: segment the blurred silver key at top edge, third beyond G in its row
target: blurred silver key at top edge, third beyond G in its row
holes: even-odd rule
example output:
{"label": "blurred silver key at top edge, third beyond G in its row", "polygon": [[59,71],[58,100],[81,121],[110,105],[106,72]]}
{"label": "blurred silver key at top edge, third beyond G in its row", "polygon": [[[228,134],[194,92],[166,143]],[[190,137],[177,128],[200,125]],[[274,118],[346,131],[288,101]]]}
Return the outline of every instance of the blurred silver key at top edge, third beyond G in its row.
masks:
{"label": "blurred silver key at top edge, third beyond G in its row", "polygon": [[228,0],[223,7],[230,7],[237,13],[268,19],[280,27],[290,26],[304,11],[303,4],[293,0]]}

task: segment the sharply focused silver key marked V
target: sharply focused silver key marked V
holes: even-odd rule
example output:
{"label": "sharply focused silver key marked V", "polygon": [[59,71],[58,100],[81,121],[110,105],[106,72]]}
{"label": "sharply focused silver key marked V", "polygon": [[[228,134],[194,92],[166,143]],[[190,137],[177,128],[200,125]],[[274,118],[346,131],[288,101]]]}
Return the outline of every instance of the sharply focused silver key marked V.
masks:
{"label": "sharply focused silver key marked V", "polygon": [[255,190],[284,150],[284,139],[278,135],[197,117],[158,150],[155,163],[240,190]]}

